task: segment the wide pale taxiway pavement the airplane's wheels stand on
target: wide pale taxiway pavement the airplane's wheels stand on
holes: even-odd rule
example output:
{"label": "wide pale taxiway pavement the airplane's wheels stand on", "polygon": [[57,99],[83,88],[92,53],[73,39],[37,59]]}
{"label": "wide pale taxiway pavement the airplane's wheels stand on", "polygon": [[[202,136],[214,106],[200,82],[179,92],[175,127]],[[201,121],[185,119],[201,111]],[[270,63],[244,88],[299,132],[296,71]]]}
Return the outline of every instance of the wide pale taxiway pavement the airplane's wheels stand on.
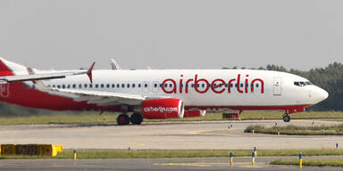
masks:
{"label": "wide pale taxiway pavement the airplane's wheels stand on", "polygon": [[[53,143],[64,149],[238,150],[334,148],[343,136],[246,134],[251,125],[332,125],[339,120],[206,121],[143,123],[141,126],[25,125],[0,126],[0,143]],[[232,124],[233,132],[228,131]]]}

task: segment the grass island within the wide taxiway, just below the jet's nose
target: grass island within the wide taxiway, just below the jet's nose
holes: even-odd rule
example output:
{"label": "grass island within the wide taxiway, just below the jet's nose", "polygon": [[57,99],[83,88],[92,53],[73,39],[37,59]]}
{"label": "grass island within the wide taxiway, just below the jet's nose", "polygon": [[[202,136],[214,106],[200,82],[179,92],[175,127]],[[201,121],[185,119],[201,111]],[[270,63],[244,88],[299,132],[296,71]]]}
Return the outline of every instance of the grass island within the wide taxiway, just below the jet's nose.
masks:
{"label": "grass island within the wide taxiway, just below the jet's nose", "polygon": [[277,134],[279,129],[280,134],[292,134],[292,135],[343,135],[343,125],[335,126],[247,126],[245,133],[252,133],[255,129],[255,133],[262,134]]}

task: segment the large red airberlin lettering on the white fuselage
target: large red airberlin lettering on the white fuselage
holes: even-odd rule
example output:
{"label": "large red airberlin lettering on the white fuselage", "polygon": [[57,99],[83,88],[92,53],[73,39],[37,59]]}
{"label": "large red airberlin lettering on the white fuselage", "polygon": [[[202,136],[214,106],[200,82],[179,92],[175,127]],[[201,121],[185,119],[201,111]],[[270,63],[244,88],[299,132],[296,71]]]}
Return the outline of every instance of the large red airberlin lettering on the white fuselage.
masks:
{"label": "large red airberlin lettering on the white fuselage", "polygon": [[242,78],[240,74],[238,74],[236,78],[232,78],[229,80],[216,78],[211,81],[205,78],[198,77],[197,74],[194,78],[190,78],[184,81],[183,75],[180,75],[179,81],[172,78],[167,78],[164,79],[162,82],[162,90],[166,94],[188,94],[189,88],[194,88],[199,94],[205,94],[208,91],[212,91],[215,94],[222,94],[225,92],[230,94],[234,89],[237,89],[237,92],[239,94],[248,94],[254,93],[254,90],[255,88],[257,88],[257,86],[259,89],[261,89],[261,94],[264,94],[263,79],[255,78],[249,80],[249,75],[246,75],[246,77]]}

